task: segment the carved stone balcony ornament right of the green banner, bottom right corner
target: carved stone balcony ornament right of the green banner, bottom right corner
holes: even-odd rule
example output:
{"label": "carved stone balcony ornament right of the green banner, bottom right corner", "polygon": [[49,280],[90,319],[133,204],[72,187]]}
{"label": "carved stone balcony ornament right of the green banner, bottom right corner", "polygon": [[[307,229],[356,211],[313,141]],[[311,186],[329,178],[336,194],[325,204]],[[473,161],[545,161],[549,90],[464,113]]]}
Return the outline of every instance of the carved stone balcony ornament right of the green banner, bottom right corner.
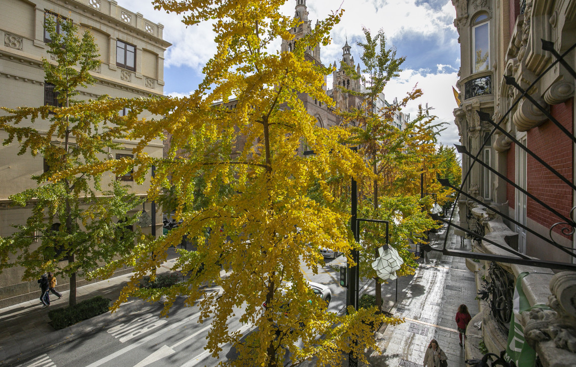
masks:
{"label": "carved stone balcony ornament right of the green banner, bottom right corner", "polygon": [[561,362],[576,361],[576,273],[564,271],[554,275],[550,291],[548,306],[554,311],[532,309],[524,335],[535,349],[538,344],[548,342],[547,347],[553,350],[547,353],[551,359],[547,365],[565,365]]}

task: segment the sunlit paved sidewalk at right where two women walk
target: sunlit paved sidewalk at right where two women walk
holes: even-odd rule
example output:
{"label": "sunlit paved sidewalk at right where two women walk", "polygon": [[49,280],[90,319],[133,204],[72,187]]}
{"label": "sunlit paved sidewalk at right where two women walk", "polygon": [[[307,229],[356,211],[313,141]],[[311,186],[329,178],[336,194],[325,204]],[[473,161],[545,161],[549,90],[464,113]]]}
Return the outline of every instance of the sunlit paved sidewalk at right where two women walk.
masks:
{"label": "sunlit paved sidewalk at right where two women walk", "polygon": [[[434,247],[442,247],[446,235],[447,248],[471,249],[469,240],[461,247],[460,237],[454,235],[453,228],[447,234],[446,226],[439,233],[431,234]],[[382,354],[367,351],[370,366],[422,366],[431,339],[438,340],[439,347],[448,356],[448,366],[465,366],[454,317],[460,304],[467,305],[472,316],[479,312],[474,276],[463,258],[439,252],[430,252],[426,257],[427,261],[420,263],[414,276],[400,279],[398,302],[391,312],[404,317],[405,321],[397,326],[383,326],[377,333]],[[393,300],[395,287],[393,284],[388,287],[387,294],[384,294],[386,286],[383,287],[382,298]]]}

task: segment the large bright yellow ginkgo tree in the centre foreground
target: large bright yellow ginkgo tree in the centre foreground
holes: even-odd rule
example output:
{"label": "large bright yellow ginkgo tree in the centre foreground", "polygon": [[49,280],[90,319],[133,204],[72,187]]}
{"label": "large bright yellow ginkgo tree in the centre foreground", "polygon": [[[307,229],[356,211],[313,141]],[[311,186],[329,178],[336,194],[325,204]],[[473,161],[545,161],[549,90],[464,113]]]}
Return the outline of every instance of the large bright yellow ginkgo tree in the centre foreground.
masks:
{"label": "large bright yellow ginkgo tree in the centre foreground", "polygon": [[[147,108],[166,116],[134,123],[130,137],[141,138],[135,150],[135,175],[156,165],[149,197],[172,188],[181,223],[97,271],[109,274],[124,264],[135,267],[115,306],[128,296],[158,300],[164,294],[168,312],[181,294],[188,296],[188,305],[199,300],[200,319],[211,317],[207,348],[216,357],[222,343],[232,343],[240,356],[229,361],[231,365],[278,366],[288,352],[293,365],[312,357],[319,365],[335,365],[342,351],[354,351],[362,359],[365,347],[376,347],[368,325],[398,320],[376,315],[375,309],[349,309],[343,316],[325,312],[325,302],[313,295],[300,270],[301,260],[312,268],[323,263],[321,247],[343,252],[351,261],[355,244],[348,226],[350,214],[326,181],[335,173],[348,181],[372,175],[358,154],[340,144],[347,130],[316,127],[297,95],[306,92],[332,104],[322,88],[324,75],[331,70],[310,62],[305,52],[329,42],[329,30],[340,13],[298,39],[293,52],[271,52],[272,41],[292,39],[290,29],[300,22],[279,13],[284,1],[154,3],[158,9],[182,14],[187,25],[212,22],[217,54],[207,62],[204,80],[190,96],[126,101],[135,110]],[[226,108],[232,97],[235,108]],[[142,154],[150,137],[162,131],[171,134],[168,157],[154,160]],[[295,154],[303,139],[316,152],[314,157]],[[184,148],[194,154],[180,154]],[[86,169],[110,167],[94,164]],[[200,176],[203,202],[196,207],[190,203],[195,202],[194,182]],[[308,196],[314,183],[321,200]],[[223,186],[231,190],[222,194]],[[141,289],[140,279],[147,274],[154,277],[167,249],[184,235],[198,238],[198,250],[179,249],[174,270],[190,277],[169,289]],[[205,294],[200,285],[206,282],[216,283],[221,292]],[[240,309],[245,310],[241,323],[257,327],[248,345],[227,324]],[[317,339],[319,334],[324,338]]]}

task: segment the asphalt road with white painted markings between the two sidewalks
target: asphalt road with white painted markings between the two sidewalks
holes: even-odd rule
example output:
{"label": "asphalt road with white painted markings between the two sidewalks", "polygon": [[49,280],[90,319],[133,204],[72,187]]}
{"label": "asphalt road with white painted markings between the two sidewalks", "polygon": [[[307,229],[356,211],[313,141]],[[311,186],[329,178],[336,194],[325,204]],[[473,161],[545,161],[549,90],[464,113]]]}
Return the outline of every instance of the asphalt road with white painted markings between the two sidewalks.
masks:
{"label": "asphalt road with white painted markings between the two sidewalks", "polygon": [[[318,274],[302,264],[301,270],[310,281],[330,287],[332,301],[329,311],[340,313],[346,305],[346,289],[339,286],[338,266],[345,264],[342,256],[326,259]],[[363,281],[361,287],[366,283]],[[216,290],[216,289],[214,289]],[[132,302],[142,302],[133,300]],[[134,308],[134,305],[132,305]],[[144,367],[144,366],[215,366],[219,361],[204,350],[210,320],[199,324],[199,309],[184,307],[183,300],[173,305],[168,319],[158,317],[162,306],[142,307],[142,311],[119,317],[104,328],[77,338],[60,342],[47,351],[32,354],[27,360],[13,364],[18,367]],[[138,310],[138,307],[134,308]],[[241,310],[235,312],[240,315]],[[229,320],[230,330],[242,334],[252,331],[242,325],[239,316]],[[55,342],[57,342],[55,340]],[[230,345],[223,345],[220,358],[233,358]]]}

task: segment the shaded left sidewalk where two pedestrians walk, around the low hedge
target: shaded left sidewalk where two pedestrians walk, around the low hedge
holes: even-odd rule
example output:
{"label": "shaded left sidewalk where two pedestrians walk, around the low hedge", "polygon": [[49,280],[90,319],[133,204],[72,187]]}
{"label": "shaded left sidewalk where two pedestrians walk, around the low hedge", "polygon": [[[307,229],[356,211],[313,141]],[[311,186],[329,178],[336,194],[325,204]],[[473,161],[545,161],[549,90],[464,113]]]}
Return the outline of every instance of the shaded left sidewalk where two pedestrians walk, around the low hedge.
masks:
{"label": "shaded left sidewalk where two pedestrians walk, around the low hedge", "polygon": [[[158,269],[158,274],[170,271],[176,259],[168,260]],[[103,296],[113,301],[120,296],[120,290],[127,284],[131,273],[119,277],[91,283],[77,289],[77,302],[94,296]],[[0,366],[17,361],[32,351],[47,349],[70,338],[102,328],[132,312],[144,309],[160,309],[161,304],[150,304],[141,300],[123,304],[115,313],[103,313],[92,319],[72,325],[61,330],[54,330],[48,318],[48,311],[68,305],[69,291],[63,291],[62,298],[51,296],[50,307],[41,308],[40,300],[22,302],[21,304],[0,309]],[[38,292],[40,297],[40,292]]]}

